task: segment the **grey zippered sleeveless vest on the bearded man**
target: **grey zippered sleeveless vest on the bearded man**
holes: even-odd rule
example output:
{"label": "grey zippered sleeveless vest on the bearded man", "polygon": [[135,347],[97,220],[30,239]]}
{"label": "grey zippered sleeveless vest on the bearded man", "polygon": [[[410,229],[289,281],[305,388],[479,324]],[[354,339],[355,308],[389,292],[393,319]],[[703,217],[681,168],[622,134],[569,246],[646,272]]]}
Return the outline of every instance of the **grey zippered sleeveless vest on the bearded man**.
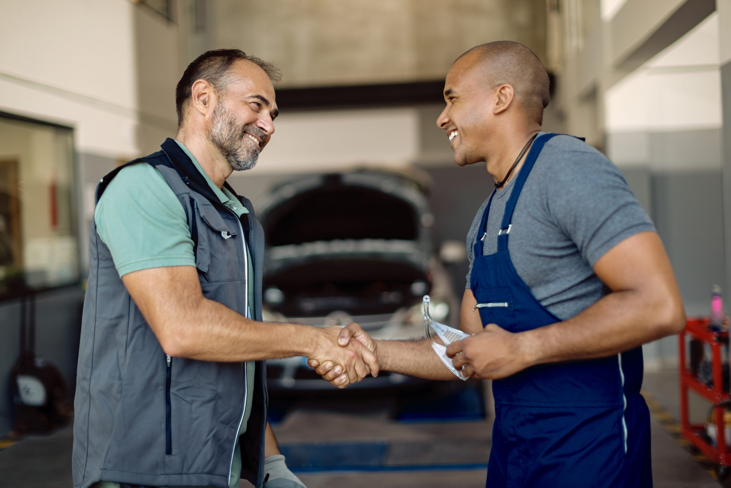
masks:
{"label": "grey zippered sleeveless vest on the bearded man", "polygon": [[[246,315],[243,232],[254,265],[251,313],[262,320],[264,235],[251,203],[241,199],[249,214],[239,220],[207,189],[205,179],[174,140],[167,139],[162,149],[135,162],[160,170],[183,206],[204,296]],[[121,168],[102,179],[97,201]],[[257,361],[249,424],[241,438],[241,477],[255,487],[262,486],[264,465],[265,369]],[[173,358],[168,366],[96,225],[89,243],[76,384],[72,460],[76,488],[96,481],[228,488],[245,404],[244,364]]]}

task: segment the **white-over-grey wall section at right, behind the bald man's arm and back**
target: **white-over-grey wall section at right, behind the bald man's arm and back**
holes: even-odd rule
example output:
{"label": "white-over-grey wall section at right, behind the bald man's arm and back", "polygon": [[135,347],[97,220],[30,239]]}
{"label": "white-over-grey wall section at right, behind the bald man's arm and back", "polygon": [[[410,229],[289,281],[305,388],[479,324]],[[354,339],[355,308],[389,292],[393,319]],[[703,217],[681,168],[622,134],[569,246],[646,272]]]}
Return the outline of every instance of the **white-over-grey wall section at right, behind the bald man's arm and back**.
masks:
{"label": "white-over-grey wall section at right, behind the bald man's arm and back", "polygon": [[[607,89],[604,105],[607,154],[655,222],[686,313],[707,315],[711,285],[728,292],[718,15]],[[674,338],[645,345],[648,369],[676,362]]]}

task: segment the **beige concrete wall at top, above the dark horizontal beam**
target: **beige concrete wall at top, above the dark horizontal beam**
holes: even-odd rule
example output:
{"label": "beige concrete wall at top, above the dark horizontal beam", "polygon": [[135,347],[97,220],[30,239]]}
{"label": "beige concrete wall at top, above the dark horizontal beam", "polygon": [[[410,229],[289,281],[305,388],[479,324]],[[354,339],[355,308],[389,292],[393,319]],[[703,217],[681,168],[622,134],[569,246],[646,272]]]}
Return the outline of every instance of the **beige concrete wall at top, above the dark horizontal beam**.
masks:
{"label": "beige concrete wall at top, above the dark horizontal beam", "polygon": [[236,47],[277,64],[281,86],[438,79],[465,50],[493,40],[523,42],[545,58],[543,0],[207,3],[206,47]]}

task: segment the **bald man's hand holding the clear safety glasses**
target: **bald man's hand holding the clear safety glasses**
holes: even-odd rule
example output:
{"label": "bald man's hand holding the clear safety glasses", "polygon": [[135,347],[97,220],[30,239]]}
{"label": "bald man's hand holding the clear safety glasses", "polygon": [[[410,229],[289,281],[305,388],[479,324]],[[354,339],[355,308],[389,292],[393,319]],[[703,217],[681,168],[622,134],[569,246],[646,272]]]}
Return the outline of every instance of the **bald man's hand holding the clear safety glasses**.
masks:
{"label": "bald man's hand holding the clear safety glasses", "polygon": [[448,345],[447,356],[463,376],[498,380],[531,366],[523,336],[489,323],[477,334]]}

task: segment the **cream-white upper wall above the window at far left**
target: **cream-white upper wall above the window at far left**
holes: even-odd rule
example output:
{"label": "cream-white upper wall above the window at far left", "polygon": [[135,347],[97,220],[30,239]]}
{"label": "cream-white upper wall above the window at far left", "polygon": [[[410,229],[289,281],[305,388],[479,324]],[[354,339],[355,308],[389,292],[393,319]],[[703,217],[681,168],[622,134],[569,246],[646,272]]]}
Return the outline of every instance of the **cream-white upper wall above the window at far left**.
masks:
{"label": "cream-white upper wall above the window at far left", "polygon": [[0,110],[74,127],[80,151],[137,154],[135,7],[127,0],[0,2]]}

